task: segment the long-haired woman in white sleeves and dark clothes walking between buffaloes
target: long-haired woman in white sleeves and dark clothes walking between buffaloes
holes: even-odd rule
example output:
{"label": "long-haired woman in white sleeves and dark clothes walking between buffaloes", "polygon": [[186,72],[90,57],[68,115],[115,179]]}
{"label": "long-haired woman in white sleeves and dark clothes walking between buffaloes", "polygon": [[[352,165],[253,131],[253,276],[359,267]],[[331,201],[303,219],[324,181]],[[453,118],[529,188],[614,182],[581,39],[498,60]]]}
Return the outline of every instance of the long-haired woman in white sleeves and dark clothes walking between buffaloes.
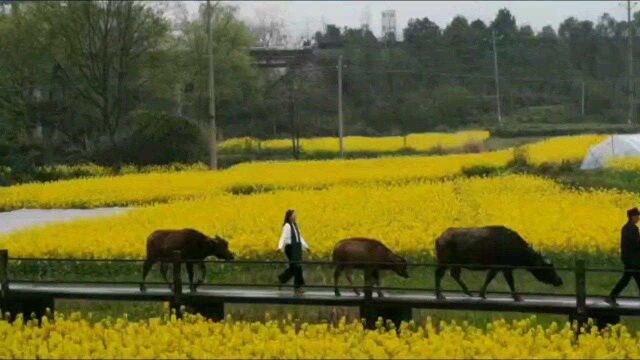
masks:
{"label": "long-haired woman in white sleeves and dark clothes walking between buffaloes", "polygon": [[296,295],[303,293],[302,286],[304,285],[304,278],[302,276],[302,249],[309,250],[309,245],[300,234],[298,224],[296,222],[295,210],[287,210],[284,215],[284,224],[282,224],[282,235],[280,236],[280,243],[278,244],[278,250],[284,251],[287,259],[289,259],[289,267],[278,275],[280,285],[286,283],[293,277],[293,289]]}

